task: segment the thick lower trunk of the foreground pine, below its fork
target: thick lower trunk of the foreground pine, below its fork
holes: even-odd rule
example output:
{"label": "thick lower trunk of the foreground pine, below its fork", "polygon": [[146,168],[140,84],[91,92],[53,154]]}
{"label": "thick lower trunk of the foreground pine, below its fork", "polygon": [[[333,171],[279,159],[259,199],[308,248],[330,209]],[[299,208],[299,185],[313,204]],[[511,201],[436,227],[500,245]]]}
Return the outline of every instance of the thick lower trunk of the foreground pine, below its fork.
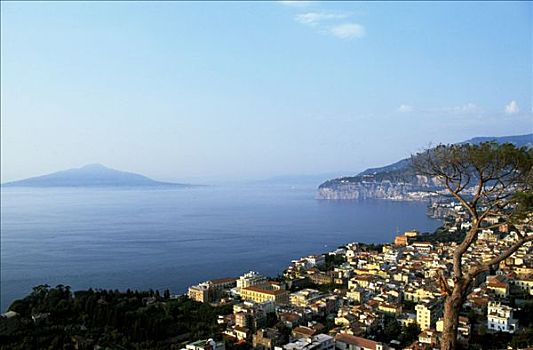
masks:
{"label": "thick lower trunk of the foreground pine, below its fork", "polygon": [[444,329],[442,331],[441,350],[457,349],[457,328],[459,313],[464,302],[462,286],[454,286],[452,294],[444,301]]}

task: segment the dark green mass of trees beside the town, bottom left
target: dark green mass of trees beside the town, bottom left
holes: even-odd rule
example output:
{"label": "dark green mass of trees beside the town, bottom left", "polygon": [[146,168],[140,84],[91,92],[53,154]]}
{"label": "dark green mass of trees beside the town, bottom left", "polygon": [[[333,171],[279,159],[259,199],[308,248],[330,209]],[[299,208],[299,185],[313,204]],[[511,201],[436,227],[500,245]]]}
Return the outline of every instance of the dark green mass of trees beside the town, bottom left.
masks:
{"label": "dark green mass of trees beside the town, bottom left", "polygon": [[[42,285],[0,319],[1,349],[179,349],[186,340],[219,334],[217,315],[231,305],[213,307],[168,292],[87,290]],[[33,316],[33,319],[32,319]]]}

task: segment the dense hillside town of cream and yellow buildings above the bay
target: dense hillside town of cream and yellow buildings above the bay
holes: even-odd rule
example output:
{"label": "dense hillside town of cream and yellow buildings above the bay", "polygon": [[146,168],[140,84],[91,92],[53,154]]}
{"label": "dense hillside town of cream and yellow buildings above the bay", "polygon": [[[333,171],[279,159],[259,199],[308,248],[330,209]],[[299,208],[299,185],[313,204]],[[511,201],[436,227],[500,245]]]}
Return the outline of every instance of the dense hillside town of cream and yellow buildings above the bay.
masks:
{"label": "dense hillside town of cream and yellow buildings above the bay", "polygon": [[[460,205],[439,203],[433,209],[448,218],[441,236],[461,237],[470,226]],[[517,232],[498,222],[498,217],[487,220],[491,228],[480,232],[465,266],[487,261],[517,239]],[[225,342],[198,340],[186,348],[438,349],[444,301],[439,276],[447,278],[457,243],[430,236],[412,230],[390,244],[350,243],[294,260],[275,279],[250,271],[191,286],[191,299],[230,304],[233,312],[219,315]],[[478,276],[459,317],[461,347],[470,348],[474,335],[510,337],[521,329],[516,315],[533,298],[532,250],[528,243],[494,271]]]}

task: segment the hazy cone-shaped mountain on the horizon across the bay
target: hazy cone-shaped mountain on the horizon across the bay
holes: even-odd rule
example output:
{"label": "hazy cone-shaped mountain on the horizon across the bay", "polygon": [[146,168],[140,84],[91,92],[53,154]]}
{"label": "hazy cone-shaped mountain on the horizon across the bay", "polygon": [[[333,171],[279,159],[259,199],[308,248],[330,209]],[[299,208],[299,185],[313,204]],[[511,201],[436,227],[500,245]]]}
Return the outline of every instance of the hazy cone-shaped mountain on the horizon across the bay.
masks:
{"label": "hazy cone-shaped mountain on the horizon across the bay", "polygon": [[146,176],[89,164],[81,168],[3,184],[4,187],[186,187],[188,185],[159,182]]}

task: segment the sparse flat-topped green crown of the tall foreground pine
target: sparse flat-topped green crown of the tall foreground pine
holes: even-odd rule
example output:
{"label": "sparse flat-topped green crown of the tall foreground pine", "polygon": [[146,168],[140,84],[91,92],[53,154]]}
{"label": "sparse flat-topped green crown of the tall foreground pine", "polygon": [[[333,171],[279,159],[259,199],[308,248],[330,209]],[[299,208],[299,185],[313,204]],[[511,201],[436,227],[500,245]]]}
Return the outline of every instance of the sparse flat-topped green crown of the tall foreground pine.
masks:
{"label": "sparse flat-topped green crown of the tall foreground pine", "polygon": [[[411,158],[419,175],[437,178],[469,213],[490,208],[524,218],[533,208],[533,149],[513,144],[439,145]],[[474,195],[468,191],[475,187]],[[513,210],[511,210],[513,209]]]}

